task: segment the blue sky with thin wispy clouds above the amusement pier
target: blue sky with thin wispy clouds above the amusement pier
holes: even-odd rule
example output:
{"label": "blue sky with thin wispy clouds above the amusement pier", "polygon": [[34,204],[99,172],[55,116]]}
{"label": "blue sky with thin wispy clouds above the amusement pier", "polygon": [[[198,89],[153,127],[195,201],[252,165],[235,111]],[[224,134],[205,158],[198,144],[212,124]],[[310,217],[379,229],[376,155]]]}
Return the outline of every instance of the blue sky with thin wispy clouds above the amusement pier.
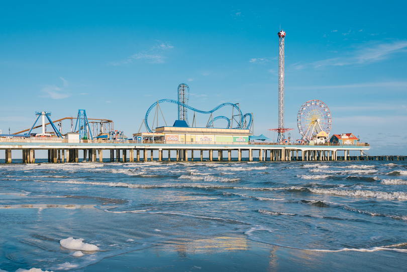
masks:
{"label": "blue sky with thin wispy clouds above the amusement pier", "polygon": [[[254,114],[256,135],[276,138],[267,129],[278,127],[281,24],[285,127],[296,128],[299,107],[319,99],[331,110],[331,135],[359,135],[372,145],[370,154],[407,155],[405,2],[1,5],[3,133],[29,128],[36,111],[50,111],[55,120],[85,109],[131,136],[151,104],[176,100],[178,84],[186,83],[191,107],[240,103],[243,113]],[[176,105],[162,110],[172,124]],[[197,116],[198,126],[207,121]],[[297,129],[291,133],[300,138]]]}

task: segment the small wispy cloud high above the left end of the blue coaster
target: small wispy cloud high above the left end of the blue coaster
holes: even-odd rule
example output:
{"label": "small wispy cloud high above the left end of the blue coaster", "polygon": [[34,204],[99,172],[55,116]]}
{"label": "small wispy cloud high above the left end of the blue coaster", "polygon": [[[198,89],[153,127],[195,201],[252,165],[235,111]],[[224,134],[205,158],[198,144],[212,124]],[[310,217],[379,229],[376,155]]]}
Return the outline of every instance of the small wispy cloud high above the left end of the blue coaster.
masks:
{"label": "small wispy cloud high above the left end of the blue coaster", "polygon": [[153,47],[151,47],[148,50],[144,50],[142,52],[135,53],[125,60],[111,62],[109,64],[118,66],[118,65],[132,63],[133,61],[140,60],[140,59],[144,59],[150,63],[163,63],[164,60],[167,58],[164,55],[164,51],[171,50],[174,47],[172,45],[170,45],[169,43],[165,43],[165,42],[161,42],[161,41],[157,41],[157,42],[158,42],[157,45],[154,45]]}

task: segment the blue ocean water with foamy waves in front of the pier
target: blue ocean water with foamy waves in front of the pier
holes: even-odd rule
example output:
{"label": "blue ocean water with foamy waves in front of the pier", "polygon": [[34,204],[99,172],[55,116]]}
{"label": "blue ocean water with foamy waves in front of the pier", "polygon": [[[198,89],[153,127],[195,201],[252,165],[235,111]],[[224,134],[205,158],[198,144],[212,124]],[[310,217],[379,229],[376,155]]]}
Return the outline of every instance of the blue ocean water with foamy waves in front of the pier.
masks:
{"label": "blue ocean water with foamy waves in front of the pier", "polygon": [[404,271],[406,223],[404,161],[0,164],[1,272]]}

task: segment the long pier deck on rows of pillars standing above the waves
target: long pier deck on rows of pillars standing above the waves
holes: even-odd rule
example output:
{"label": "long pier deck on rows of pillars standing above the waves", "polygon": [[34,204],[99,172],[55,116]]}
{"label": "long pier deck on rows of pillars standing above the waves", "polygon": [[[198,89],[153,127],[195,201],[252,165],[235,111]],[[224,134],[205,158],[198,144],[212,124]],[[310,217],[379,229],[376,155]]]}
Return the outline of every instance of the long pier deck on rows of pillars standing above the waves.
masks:
{"label": "long pier deck on rows of pillars standing above the waves", "polygon": [[[21,150],[24,163],[35,163],[37,150],[48,151],[48,162],[103,161],[105,152],[110,161],[327,161],[327,160],[405,160],[405,156],[366,156],[370,146],[366,143],[341,145],[325,143],[276,144],[252,142],[214,142],[201,144],[192,142],[165,143],[128,140],[123,142],[103,140],[37,140],[2,138],[0,149],[5,150],[6,163],[12,163],[12,150]],[[338,155],[342,151],[343,156]],[[359,156],[350,156],[350,151],[360,152]],[[234,152],[235,157],[232,157]],[[236,156],[237,153],[237,156]],[[166,158],[163,157],[166,155]],[[244,156],[245,155],[245,156]]]}

